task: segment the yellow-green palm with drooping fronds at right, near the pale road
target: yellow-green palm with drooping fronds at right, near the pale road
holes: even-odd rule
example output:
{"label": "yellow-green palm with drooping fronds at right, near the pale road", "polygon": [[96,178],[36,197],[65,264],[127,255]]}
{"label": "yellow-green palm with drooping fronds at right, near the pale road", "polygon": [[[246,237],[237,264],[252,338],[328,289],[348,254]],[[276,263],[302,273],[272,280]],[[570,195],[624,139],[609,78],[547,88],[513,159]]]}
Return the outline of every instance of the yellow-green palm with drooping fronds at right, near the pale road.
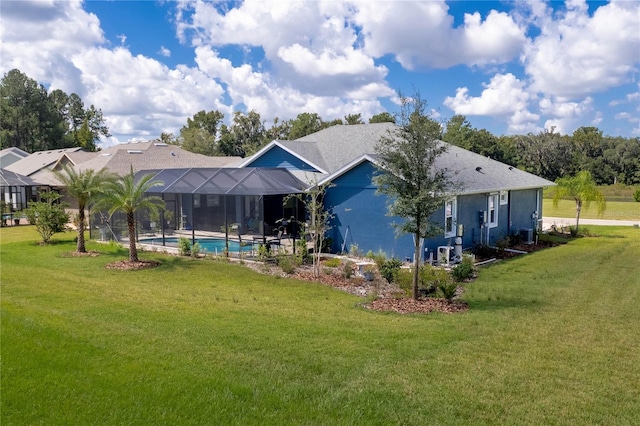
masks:
{"label": "yellow-green palm with drooping fronds at right, near the pale road", "polygon": [[556,180],[558,188],[553,195],[553,205],[558,206],[558,202],[564,197],[571,197],[576,202],[576,235],[580,225],[580,212],[582,207],[589,208],[592,201],[598,204],[598,214],[602,214],[607,208],[602,192],[598,190],[593,176],[588,170],[578,172],[573,177],[563,177]]}

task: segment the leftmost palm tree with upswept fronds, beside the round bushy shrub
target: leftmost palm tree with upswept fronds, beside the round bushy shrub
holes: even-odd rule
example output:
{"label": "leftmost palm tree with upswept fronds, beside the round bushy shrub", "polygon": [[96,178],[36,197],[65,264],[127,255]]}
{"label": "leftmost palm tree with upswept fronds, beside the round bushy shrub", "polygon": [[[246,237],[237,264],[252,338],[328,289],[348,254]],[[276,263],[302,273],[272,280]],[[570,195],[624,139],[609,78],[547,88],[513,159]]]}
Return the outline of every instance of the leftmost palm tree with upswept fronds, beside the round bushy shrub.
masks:
{"label": "leftmost palm tree with upswept fronds, beside the round bushy shrub", "polygon": [[65,166],[60,171],[54,172],[56,178],[65,187],[67,196],[76,200],[78,215],[76,217],[78,227],[78,253],[86,253],[84,242],[85,209],[90,206],[102,193],[104,185],[113,178],[106,169],[95,171],[92,169],[76,171],[75,168]]}

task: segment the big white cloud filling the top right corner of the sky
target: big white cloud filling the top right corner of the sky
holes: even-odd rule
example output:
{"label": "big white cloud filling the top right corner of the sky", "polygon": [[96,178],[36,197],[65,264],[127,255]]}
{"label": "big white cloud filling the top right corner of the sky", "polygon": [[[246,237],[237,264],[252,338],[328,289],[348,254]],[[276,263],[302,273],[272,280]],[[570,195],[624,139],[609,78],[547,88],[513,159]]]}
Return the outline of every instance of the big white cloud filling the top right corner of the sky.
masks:
{"label": "big white cloud filling the top right corner of the sky", "polygon": [[541,34],[522,60],[532,88],[547,96],[582,98],[631,81],[640,52],[640,3],[611,2],[588,15],[582,0],[559,18],[546,10]]}

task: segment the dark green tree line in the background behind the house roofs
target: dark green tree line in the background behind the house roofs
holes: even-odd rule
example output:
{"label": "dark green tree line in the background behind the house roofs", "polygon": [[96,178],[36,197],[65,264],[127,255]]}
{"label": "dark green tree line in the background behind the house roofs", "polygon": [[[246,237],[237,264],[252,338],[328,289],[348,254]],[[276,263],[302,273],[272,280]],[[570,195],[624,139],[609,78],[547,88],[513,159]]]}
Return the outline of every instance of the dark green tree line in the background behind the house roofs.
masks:
{"label": "dark green tree line in the background behind the house roofs", "polygon": [[[109,136],[102,111],[85,108],[76,94],[61,90],[48,93],[19,70],[2,79],[0,137],[2,148],[16,146],[27,152],[80,146],[97,149],[96,142]],[[369,123],[396,122],[383,112]],[[363,124],[361,114],[325,121],[317,113],[301,113],[294,119],[276,118],[267,125],[256,111],[236,111],[230,124],[220,111],[200,111],[187,119],[178,135],[162,133],[160,139],[183,149],[212,156],[246,157],[272,140],[294,140],[337,124]],[[588,170],[599,185],[640,184],[640,138],[606,136],[597,127],[580,127],[571,135],[555,129],[526,135],[495,136],[476,129],[463,115],[440,123],[439,137],[453,145],[491,157],[555,181]]]}

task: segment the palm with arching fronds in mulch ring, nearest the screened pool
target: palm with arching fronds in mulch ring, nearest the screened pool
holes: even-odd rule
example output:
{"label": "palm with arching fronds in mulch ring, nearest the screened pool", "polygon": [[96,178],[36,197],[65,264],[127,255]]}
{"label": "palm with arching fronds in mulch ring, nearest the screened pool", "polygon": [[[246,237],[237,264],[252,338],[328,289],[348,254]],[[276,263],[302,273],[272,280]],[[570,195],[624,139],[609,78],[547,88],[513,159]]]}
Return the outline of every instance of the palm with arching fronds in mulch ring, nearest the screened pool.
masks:
{"label": "palm with arching fronds in mulch ring, nearest the screened pool", "polygon": [[139,261],[136,248],[135,213],[141,209],[149,209],[154,213],[164,209],[162,198],[144,195],[152,187],[162,185],[161,181],[151,179],[153,179],[153,175],[148,174],[136,180],[132,167],[129,174],[107,183],[101,200],[101,205],[108,206],[109,216],[117,211],[121,211],[127,216],[129,262]]}

